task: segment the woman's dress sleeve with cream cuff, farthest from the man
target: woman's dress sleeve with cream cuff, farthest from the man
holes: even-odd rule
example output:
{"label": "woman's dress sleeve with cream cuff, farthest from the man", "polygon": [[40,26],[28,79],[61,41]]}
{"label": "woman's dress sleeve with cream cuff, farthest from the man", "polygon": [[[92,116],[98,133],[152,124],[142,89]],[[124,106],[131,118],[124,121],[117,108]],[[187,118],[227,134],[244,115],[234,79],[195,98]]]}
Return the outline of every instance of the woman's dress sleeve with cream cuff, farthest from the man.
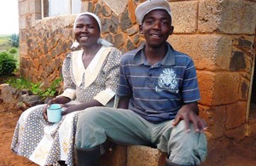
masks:
{"label": "woman's dress sleeve with cream cuff, farthest from the man", "polygon": [[59,96],[65,96],[71,100],[74,100],[76,98],[76,85],[72,81],[72,71],[72,54],[67,54],[67,57],[62,64],[64,91]]}

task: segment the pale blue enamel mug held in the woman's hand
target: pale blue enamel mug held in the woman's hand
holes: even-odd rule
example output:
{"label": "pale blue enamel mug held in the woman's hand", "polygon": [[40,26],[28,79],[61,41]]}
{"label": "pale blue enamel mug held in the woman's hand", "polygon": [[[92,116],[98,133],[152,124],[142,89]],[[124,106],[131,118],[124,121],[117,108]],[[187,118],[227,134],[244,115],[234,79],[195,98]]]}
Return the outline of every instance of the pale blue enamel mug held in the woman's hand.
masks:
{"label": "pale blue enamel mug held in the woman's hand", "polygon": [[47,117],[50,123],[58,123],[61,121],[62,108],[59,104],[52,104],[47,108]]}

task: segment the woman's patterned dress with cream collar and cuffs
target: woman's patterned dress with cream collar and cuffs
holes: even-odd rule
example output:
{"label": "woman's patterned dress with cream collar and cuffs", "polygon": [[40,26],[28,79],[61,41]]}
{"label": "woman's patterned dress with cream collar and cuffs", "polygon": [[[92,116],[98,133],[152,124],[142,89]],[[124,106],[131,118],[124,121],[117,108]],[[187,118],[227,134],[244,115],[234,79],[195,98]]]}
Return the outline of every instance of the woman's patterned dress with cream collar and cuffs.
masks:
{"label": "woman's patterned dress with cream collar and cuffs", "polygon": [[[79,104],[95,99],[108,105],[119,81],[121,53],[113,47],[102,46],[90,65],[84,69],[83,50],[73,51],[62,66],[64,92],[71,99],[68,104]],[[39,165],[66,161],[73,165],[73,147],[79,112],[63,116],[60,123],[44,120],[45,105],[33,106],[23,112],[16,125],[11,150]]]}

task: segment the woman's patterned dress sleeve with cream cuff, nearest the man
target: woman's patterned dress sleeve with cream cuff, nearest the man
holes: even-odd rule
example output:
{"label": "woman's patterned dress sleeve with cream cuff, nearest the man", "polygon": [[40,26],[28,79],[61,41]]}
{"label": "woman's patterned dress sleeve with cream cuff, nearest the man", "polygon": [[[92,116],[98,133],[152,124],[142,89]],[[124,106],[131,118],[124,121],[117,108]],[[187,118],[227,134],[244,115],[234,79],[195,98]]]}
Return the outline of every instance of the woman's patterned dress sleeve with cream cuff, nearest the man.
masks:
{"label": "woman's patterned dress sleeve with cream cuff, nearest the man", "polygon": [[103,106],[106,106],[108,101],[111,100],[116,93],[119,83],[121,55],[122,53],[119,49],[112,48],[108,54],[108,58],[106,59],[106,66],[103,68],[103,72],[107,75],[105,80],[106,89],[102,90],[94,97],[94,99],[102,103]]}

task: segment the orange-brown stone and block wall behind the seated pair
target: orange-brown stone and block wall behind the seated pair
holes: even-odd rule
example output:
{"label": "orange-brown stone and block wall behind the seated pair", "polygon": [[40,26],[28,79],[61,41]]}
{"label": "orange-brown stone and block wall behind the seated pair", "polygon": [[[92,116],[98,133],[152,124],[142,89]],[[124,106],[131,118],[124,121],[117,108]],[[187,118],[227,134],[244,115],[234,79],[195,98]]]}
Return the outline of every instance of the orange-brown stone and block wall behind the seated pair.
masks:
{"label": "orange-brown stone and block wall behind the seated pair", "polygon": [[[123,53],[143,42],[134,11],[143,1],[82,0],[81,12],[102,20],[102,37]],[[201,89],[201,117],[208,139],[247,135],[248,101],[255,58],[256,0],[170,0],[172,46],[189,54]],[[75,15],[41,20],[40,0],[19,0],[20,72],[33,82],[61,76],[73,42]]]}

